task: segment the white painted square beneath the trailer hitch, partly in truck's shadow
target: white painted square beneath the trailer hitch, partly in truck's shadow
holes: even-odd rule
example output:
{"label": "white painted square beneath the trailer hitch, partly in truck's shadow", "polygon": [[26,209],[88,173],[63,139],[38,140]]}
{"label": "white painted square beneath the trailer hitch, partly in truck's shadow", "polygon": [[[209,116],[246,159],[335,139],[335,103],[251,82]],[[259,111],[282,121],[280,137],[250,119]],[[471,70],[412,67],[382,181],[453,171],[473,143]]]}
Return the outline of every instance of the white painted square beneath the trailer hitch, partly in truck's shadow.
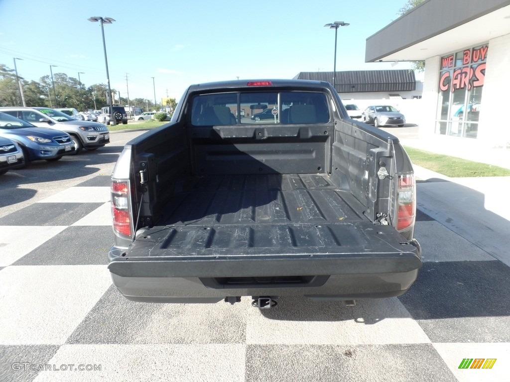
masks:
{"label": "white painted square beneath the trailer hitch, partly in truck's shadow", "polygon": [[[295,299],[264,316],[253,311],[247,322],[247,344],[401,344],[430,343],[398,298],[366,299],[355,307]],[[285,305],[293,304],[291,297]]]}

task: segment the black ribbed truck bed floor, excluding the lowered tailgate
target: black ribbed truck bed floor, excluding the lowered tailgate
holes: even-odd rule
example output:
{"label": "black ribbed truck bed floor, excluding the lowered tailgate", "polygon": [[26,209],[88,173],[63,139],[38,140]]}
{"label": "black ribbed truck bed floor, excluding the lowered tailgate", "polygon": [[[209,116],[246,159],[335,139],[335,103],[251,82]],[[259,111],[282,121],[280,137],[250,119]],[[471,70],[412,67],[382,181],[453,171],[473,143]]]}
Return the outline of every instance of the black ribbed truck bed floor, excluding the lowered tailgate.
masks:
{"label": "black ribbed truck bed floor, excluding the lowered tailgate", "polygon": [[194,177],[172,199],[163,214],[163,225],[267,226],[365,220],[355,212],[363,211],[363,206],[326,174]]}

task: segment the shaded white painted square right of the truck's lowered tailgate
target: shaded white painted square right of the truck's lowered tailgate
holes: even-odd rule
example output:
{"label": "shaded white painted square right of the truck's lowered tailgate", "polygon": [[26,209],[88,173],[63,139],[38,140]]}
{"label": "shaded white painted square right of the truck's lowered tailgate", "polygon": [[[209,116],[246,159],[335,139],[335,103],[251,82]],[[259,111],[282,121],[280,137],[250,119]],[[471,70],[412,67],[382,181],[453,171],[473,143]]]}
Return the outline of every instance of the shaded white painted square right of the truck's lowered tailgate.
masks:
{"label": "shaded white painted square right of the truck's lowered tailgate", "polygon": [[495,257],[443,226],[416,222],[414,237],[420,242],[422,261],[491,261]]}

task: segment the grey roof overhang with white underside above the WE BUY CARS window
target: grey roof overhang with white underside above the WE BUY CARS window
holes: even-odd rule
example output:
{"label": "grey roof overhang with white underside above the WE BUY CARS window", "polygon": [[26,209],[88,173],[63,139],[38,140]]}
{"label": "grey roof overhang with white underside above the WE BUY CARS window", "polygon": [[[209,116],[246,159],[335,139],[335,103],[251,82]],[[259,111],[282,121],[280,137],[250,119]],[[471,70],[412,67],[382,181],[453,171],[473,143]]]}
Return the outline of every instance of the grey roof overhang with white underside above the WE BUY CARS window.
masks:
{"label": "grey roof overhang with white underside above the WE BUY CARS window", "polygon": [[510,0],[426,0],[367,38],[365,62],[421,61],[510,31]]}

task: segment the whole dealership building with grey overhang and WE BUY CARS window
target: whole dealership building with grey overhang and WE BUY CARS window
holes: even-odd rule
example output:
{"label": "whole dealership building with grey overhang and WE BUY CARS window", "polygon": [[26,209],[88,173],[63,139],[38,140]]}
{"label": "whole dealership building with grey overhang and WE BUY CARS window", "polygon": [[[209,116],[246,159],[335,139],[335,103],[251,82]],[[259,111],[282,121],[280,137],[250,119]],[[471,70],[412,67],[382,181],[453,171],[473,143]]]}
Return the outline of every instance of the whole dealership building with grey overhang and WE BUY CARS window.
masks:
{"label": "whole dealership building with grey overhang and WE BUY CARS window", "polygon": [[365,61],[425,61],[420,136],[510,143],[510,1],[426,0],[367,38]]}

